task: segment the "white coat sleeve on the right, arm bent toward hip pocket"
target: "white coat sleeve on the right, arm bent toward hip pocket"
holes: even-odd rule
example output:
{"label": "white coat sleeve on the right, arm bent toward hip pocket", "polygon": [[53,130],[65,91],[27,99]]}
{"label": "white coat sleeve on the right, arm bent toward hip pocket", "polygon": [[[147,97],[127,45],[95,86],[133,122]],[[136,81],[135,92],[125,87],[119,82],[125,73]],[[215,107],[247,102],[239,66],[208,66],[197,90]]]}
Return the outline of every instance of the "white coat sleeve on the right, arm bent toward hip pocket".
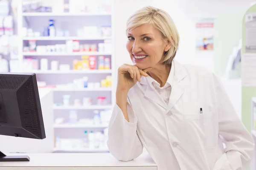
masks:
{"label": "white coat sleeve on the right, arm bent toward hip pocket", "polygon": [[214,170],[246,170],[253,156],[253,138],[239,119],[221,80],[215,75],[214,82],[219,135],[226,144],[225,153],[216,161]]}

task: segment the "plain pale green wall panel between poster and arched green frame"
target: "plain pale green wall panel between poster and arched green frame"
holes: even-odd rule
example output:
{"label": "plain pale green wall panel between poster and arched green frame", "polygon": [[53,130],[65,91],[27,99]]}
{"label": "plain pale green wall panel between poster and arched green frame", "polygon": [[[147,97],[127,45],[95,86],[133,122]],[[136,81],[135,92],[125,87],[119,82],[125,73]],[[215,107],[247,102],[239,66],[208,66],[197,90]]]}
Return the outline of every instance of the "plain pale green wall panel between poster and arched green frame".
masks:
{"label": "plain pale green wall panel between poster and arched green frame", "polygon": [[239,45],[242,37],[244,11],[227,11],[214,22],[215,74],[223,76],[233,48]]}

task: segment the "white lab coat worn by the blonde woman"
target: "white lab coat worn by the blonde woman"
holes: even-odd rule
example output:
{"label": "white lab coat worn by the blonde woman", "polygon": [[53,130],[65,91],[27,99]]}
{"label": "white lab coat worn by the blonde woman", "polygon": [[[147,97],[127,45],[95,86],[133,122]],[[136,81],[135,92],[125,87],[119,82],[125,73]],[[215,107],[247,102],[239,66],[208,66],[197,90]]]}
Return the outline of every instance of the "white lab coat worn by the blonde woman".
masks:
{"label": "white lab coat worn by the blonde woman", "polygon": [[220,79],[175,60],[171,71],[169,105],[142,77],[128,92],[129,122],[114,106],[108,131],[110,153],[130,161],[140,156],[144,146],[158,170],[245,170],[254,142]]}

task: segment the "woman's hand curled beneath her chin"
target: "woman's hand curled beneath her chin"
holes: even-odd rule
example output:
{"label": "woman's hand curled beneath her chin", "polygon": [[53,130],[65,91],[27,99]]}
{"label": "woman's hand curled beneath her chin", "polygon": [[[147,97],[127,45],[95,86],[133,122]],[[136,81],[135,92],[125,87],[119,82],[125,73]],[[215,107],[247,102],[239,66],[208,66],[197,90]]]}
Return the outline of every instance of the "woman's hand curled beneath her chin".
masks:
{"label": "woman's hand curled beneath her chin", "polygon": [[128,93],[130,88],[140,82],[142,76],[148,76],[146,72],[150,69],[140,70],[137,66],[123,64],[118,68],[117,91]]}

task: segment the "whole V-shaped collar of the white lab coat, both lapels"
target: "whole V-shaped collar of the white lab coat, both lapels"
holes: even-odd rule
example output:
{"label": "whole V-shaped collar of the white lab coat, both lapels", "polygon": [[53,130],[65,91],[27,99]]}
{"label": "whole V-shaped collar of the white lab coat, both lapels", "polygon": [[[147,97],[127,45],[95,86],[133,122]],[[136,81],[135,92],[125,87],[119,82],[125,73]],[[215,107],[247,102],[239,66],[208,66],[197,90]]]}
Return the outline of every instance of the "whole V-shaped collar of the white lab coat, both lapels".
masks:
{"label": "whole V-shaped collar of the white lab coat, both lapels", "polygon": [[166,105],[166,102],[164,102],[164,100],[157,93],[157,91],[155,91],[154,88],[151,88],[150,83],[152,82],[148,82],[148,79],[146,77],[143,77],[140,82],[140,84],[147,85],[146,90],[144,92],[145,97],[153,100],[163,108],[166,108],[166,113],[168,113],[168,111],[172,109],[172,107],[175,105],[177,100],[183,94],[184,85],[180,81],[187,76],[185,68],[175,60],[173,60],[172,62],[172,68],[170,72],[172,71],[173,71],[174,79],[172,79],[172,74],[169,74],[169,78],[168,78],[169,79],[168,81],[170,81],[169,83],[172,86],[172,92],[169,98],[169,105]]}

